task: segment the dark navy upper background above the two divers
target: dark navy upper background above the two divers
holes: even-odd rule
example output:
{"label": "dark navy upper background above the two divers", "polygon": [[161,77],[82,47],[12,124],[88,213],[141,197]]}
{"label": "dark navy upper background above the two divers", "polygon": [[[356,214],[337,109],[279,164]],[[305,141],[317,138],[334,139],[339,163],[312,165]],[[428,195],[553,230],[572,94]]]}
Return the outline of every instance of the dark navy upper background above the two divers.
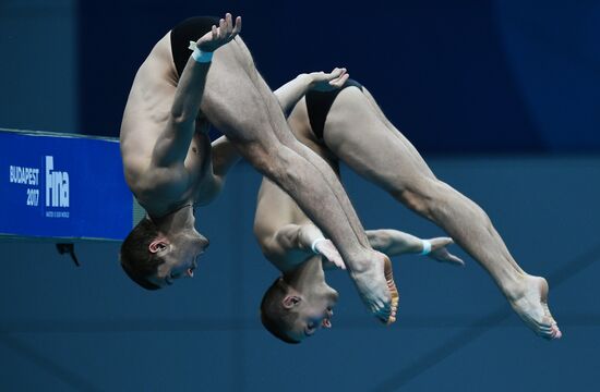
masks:
{"label": "dark navy upper background above the two divers", "polygon": [[346,66],[424,151],[600,148],[597,1],[84,1],[82,130],[117,135],[154,44],[185,17],[228,10],[273,88]]}

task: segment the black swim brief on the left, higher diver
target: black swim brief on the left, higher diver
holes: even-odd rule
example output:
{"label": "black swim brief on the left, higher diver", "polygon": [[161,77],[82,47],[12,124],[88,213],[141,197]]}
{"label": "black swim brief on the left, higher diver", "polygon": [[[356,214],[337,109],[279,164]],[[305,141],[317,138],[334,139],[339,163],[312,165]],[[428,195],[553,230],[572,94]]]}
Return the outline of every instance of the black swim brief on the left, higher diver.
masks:
{"label": "black swim brief on the left, higher diver", "polygon": [[175,68],[181,76],[192,50],[190,41],[196,41],[208,33],[213,26],[219,25],[219,19],[216,16],[194,16],[187,19],[171,29],[171,52],[173,56]]}

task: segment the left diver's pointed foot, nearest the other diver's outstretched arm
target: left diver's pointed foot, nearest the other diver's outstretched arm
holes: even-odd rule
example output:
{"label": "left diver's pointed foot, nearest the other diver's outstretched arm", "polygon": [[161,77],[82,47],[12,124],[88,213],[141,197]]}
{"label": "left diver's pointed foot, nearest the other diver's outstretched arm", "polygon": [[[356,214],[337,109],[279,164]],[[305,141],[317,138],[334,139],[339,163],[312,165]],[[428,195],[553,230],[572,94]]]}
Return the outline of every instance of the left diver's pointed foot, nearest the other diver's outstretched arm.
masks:
{"label": "left diver's pointed foot, nearest the other diver's outstretched arm", "polygon": [[351,275],[362,301],[371,313],[387,324],[396,321],[398,290],[394,283],[392,262],[382,253],[370,253],[370,259],[360,271]]}

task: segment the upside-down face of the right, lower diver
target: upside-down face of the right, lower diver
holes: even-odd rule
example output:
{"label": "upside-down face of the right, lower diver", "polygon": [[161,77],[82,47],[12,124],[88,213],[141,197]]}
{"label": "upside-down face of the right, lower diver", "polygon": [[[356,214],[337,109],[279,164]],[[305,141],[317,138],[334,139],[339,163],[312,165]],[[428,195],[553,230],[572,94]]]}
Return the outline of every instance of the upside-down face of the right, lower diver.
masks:
{"label": "upside-down face of the right, lower diver", "polygon": [[300,298],[291,310],[298,314],[298,318],[287,335],[299,342],[312,336],[321,328],[332,328],[337,297],[337,292],[327,287],[324,293],[312,295],[310,299]]}

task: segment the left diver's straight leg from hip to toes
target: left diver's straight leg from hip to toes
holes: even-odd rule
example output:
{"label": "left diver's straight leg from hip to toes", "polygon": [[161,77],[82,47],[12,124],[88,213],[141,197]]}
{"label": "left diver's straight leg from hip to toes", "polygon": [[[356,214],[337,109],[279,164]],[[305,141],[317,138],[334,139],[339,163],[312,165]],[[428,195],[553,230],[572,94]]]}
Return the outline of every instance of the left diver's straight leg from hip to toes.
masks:
{"label": "left diver's straight leg from hip to toes", "polygon": [[[286,191],[307,215],[332,238],[346,258],[350,274],[368,307],[381,319],[392,314],[393,290],[385,278],[386,258],[359,238],[346,211],[332,193],[323,173],[277,135],[291,131],[276,98],[259,91],[251,71],[239,61],[236,46],[219,48],[207,74],[201,110],[226,134],[240,154],[264,175]],[[265,101],[266,99],[266,101]],[[331,171],[331,168],[329,168]],[[333,174],[333,171],[332,171]],[[335,175],[334,175],[335,179]],[[337,180],[335,180],[337,181]],[[351,210],[353,212],[353,209]],[[358,219],[356,219],[358,221]]]}

